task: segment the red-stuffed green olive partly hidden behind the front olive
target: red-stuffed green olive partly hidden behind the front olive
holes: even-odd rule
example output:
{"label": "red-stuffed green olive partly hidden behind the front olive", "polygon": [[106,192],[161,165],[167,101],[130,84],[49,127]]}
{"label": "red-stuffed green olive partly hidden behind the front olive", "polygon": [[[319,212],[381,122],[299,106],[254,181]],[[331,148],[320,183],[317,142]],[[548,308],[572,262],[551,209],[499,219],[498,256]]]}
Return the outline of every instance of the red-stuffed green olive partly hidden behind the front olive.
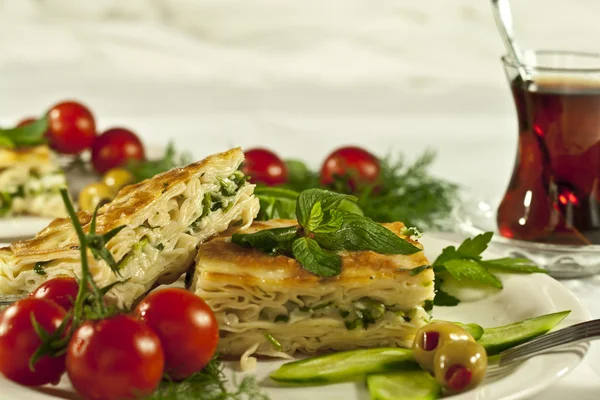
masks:
{"label": "red-stuffed green olive partly hidden behind the front olive", "polygon": [[417,331],[413,341],[415,360],[419,365],[433,372],[433,357],[436,350],[452,341],[472,341],[473,337],[458,325],[450,322],[432,322]]}

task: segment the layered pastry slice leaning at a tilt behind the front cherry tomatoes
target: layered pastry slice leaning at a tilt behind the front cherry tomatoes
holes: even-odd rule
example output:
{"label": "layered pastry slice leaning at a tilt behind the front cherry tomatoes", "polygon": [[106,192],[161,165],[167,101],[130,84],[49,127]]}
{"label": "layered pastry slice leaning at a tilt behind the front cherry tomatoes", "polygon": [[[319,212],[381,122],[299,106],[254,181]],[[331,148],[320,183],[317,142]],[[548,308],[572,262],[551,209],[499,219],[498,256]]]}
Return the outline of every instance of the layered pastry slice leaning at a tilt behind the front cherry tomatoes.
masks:
{"label": "layered pastry slice leaning at a tilt behind the front cherry tomatoes", "polygon": [[[252,222],[259,203],[239,171],[243,159],[238,148],[172,169],[124,187],[100,208],[99,234],[125,226],[106,246],[127,279],[109,292],[118,305],[129,307],[153,286],[178,279],[204,240]],[[87,231],[91,215],[78,216]],[[90,255],[89,262],[99,286],[118,279],[103,260]],[[0,294],[27,293],[46,279],[80,272],[79,240],[69,219],[0,249]]]}

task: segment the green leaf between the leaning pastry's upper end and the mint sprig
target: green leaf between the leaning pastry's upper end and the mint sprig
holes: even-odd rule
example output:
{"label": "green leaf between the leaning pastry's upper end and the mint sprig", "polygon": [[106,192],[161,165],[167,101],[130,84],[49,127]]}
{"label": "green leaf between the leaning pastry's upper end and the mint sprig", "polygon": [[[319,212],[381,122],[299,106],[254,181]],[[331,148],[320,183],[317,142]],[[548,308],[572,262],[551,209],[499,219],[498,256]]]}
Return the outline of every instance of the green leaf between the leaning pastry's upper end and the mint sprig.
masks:
{"label": "green leaf between the leaning pastry's upper end and the mint sprig", "polygon": [[298,192],[282,188],[257,187],[254,189],[254,195],[260,202],[257,220],[296,219]]}

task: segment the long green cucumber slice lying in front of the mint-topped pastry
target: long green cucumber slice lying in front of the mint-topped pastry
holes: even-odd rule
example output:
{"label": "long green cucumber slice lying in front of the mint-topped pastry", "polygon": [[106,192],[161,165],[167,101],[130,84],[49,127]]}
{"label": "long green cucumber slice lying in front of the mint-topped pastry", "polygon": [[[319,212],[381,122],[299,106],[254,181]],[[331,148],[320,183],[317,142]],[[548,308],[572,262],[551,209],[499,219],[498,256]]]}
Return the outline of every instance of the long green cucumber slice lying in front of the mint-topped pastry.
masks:
{"label": "long green cucumber slice lying in front of the mint-topped pastry", "polygon": [[283,364],[270,377],[284,383],[326,384],[418,367],[411,350],[390,347],[344,351],[293,361]]}

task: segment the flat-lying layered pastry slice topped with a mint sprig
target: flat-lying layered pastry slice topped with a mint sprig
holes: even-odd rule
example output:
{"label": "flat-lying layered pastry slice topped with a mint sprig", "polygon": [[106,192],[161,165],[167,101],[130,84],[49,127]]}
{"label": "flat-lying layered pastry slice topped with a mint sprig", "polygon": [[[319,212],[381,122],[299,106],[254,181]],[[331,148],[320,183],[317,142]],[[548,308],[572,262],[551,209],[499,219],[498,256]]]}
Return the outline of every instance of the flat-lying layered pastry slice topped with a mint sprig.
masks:
{"label": "flat-lying layered pastry slice topped with a mint sprig", "polygon": [[[254,222],[244,233],[287,227],[296,221]],[[404,224],[384,224],[402,235]],[[271,256],[231,242],[236,230],[198,250],[190,290],[213,309],[220,327],[219,353],[289,357],[296,352],[363,347],[410,347],[416,330],[429,321],[433,271],[423,251],[383,255],[341,252],[342,272],[320,277],[293,258]],[[418,272],[418,273],[416,273]]]}

